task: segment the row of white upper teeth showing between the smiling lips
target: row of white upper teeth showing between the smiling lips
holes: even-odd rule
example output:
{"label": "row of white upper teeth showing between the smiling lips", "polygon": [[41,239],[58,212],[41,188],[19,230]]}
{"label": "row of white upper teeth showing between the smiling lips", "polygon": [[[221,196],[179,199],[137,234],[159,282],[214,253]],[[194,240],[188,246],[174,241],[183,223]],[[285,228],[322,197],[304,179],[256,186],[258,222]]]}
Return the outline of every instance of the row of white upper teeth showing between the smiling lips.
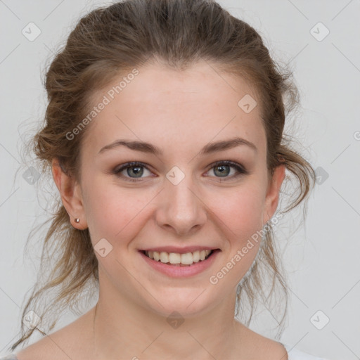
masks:
{"label": "row of white upper teeth showing between the smiling lips", "polygon": [[193,266],[196,263],[204,262],[212,257],[220,249],[212,250],[195,250],[193,252],[178,253],[178,252],[158,252],[140,250],[149,259],[169,266],[188,267]]}

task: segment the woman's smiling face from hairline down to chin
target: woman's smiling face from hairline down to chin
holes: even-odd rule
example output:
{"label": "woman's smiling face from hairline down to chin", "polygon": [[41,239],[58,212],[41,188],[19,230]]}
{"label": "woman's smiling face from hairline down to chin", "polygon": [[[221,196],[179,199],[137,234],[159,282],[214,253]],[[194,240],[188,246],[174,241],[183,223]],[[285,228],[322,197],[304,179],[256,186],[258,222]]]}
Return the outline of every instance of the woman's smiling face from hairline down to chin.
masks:
{"label": "woman's smiling face from hairline down to chin", "polygon": [[[106,104],[86,125],[72,212],[89,226],[101,292],[158,314],[193,316],[234,298],[259,250],[252,236],[273,216],[283,181],[283,167],[268,178],[255,93],[215,69],[139,68],[117,92],[123,77],[95,94],[94,106]],[[141,164],[121,168],[129,162]],[[193,265],[160,264],[143,255],[150,249]],[[196,249],[217,251],[204,262],[195,262],[200,252],[181,257]]]}

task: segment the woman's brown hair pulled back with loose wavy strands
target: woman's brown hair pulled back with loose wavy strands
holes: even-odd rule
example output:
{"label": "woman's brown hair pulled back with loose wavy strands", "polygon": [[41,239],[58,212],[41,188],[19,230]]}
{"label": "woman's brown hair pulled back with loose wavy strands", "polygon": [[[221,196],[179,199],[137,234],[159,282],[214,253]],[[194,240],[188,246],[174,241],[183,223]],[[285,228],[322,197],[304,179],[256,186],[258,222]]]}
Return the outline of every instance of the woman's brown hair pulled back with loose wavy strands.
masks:
{"label": "woman's brown hair pulled back with loose wavy strands", "polygon": [[[79,149],[86,128],[71,141],[66,134],[89,113],[94,105],[91,103],[94,91],[103,89],[120,73],[134,67],[141,69],[149,59],[161,60],[177,70],[206,60],[218,70],[240,75],[254,84],[266,130],[269,174],[273,174],[278,165],[285,164],[299,185],[297,192],[288,194],[288,199],[293,201],[283,213],[303,200],[306,203],[314,169],[290,148],[283,134],[285,116],[299,102],[297,87],[290,81],[292,72],[274,62],[262,38],[250,25],[211,0],[121,1],[97,8],[79,20],[46,72],[49,105],[44,127],[30,144],[43,172],[51,170],[52,160],[57,159],[63,172],[80,179]],[[41,318],[35,327],[38,330],[43,323],[49,325],[45,317],[50,318],[55,311],[59,314],[60,309],[66,307],[77,309],[80,295],[98,285],[98,262],[88,229],[78,230],[70,224],[60,198],[56,199],[49,221],[39,271],[39,275],[49,276],[42,285],[37,280],[22,314],[22,320],[30,310],[38,314]],[[286,315],[288,288],[271,226],[250,270],[238,285],[236,316],[245,306],[243,296],[247,295],[251,309],[248,325],[258,295],[262,295],[266,304],[278,283],[286,303],[281,325]],[[268,284],[271,284],[270,293],[264,299],[264,286]],[[47,290],[56,290],[56,295],[44,307],[40,300],[44,300]],[[51,323],[49,330],[57,321]],[[22,323],[20,340],[11,349],[29,338],[35,328],[24,332]],[[46,331],[41,333],[46,335]]]}

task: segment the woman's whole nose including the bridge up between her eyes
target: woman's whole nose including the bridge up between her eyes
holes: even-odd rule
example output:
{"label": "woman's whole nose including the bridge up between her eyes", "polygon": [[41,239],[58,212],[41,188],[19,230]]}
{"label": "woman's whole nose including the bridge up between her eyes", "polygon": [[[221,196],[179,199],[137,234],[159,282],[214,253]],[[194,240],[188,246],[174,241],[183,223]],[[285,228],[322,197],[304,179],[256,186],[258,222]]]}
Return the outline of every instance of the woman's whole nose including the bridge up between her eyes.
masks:
{"label": "woman's whole nose including the bridge up between her eyes", "polygon": [[172,227],[176,233],[187,233],[206,221],[205,205],[199,199],[190,170],[173,167],[166,175],[162,201],[157,212],[160,226]]}

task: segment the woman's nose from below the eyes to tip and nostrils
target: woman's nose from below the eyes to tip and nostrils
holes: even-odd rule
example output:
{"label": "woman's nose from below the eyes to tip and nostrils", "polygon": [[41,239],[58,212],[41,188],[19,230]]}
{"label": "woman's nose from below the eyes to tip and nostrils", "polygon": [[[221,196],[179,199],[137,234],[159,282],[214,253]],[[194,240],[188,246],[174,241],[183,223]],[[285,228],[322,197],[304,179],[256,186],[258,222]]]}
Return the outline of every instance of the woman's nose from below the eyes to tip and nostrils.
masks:
{"label": "woman's nose from below the eyes to tip and nostrils", "polygon": [[207,220],[207,207],[191,176],[185,176],[176,185],[165,179],[164,186],[159,194],[157,224],[181,236],[201,229]]}

